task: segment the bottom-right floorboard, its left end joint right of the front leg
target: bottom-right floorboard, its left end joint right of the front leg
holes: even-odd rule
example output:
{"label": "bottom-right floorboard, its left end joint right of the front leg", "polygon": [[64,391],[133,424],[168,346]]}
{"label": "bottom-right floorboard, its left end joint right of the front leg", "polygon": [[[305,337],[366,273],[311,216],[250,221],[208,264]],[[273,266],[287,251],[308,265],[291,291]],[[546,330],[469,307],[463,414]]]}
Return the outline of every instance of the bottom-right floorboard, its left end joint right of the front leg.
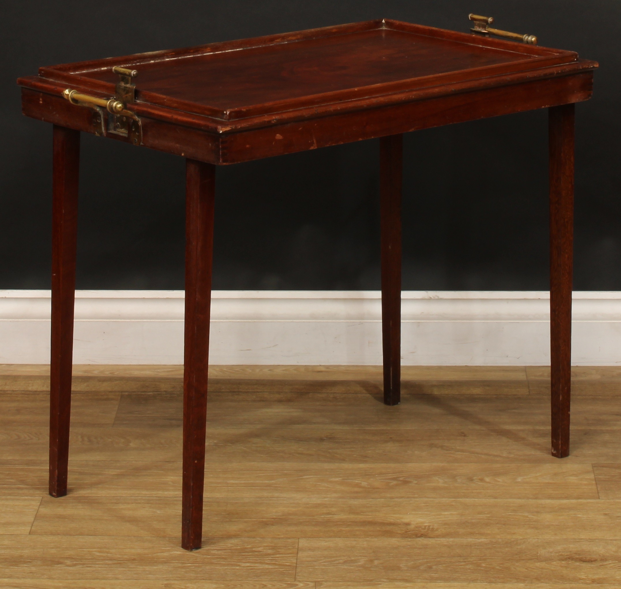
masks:
{"label": "bottom-right floorboard, its left end joint right of the front leg", "polygon": [[619,585],[621,541],[302,538],[296,578]]}

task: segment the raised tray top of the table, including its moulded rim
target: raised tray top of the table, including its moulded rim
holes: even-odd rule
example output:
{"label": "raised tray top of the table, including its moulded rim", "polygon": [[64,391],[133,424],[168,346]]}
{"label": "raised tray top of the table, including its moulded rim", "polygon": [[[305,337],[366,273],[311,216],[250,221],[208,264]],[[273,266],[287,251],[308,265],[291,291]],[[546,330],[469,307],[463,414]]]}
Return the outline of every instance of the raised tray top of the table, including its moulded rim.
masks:
{"label": "raised tray top of the table, including its moulded rim", "polygon": [[138,101],[229,121],[577,60],[563,50],[369,21],[45,67],[40,76],[111,94],[112,66],[130,66]]}

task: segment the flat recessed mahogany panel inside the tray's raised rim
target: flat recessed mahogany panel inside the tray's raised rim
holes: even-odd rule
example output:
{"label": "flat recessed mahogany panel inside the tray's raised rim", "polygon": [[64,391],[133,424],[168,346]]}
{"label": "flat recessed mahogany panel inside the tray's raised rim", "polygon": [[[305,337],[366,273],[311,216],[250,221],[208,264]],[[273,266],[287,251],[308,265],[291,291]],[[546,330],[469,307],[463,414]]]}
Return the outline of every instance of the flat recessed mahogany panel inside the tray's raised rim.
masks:
{"label": "flat recessed mahogany panel inside the tray's raised rim", "polygon": [[[420,84],[414,80],[532,59],[510,50],[374,29],[136,67],[140,91],[211,106],[222,118],[238,118],[276,111],[291,103],[307,106],[317,94],[344,94],[347,90],[348,96],[376,94],[402,80]],[[111,84],[116,81],[109,69],[81,75]],[[301,101],[304,97],[309,99]],[[315,101],[329,98],[319,96]]]}

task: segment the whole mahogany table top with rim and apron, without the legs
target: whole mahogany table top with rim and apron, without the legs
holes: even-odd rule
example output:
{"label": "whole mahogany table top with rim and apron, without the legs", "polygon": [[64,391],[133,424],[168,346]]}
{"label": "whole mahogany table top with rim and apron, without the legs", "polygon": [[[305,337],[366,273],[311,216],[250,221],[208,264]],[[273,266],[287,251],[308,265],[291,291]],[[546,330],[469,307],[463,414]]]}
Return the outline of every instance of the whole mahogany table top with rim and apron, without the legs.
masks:
{"label": "whole mahogany table top with rim and apron, without the legs", "polygon": [[215,164],[579,102],[597,67],[574,52],[369,21],[43,67],[18,80],[24,114],[93,133],[89,109],[60,97],[114,96],[115,65],[138,71],[129,109],[142,145]]}

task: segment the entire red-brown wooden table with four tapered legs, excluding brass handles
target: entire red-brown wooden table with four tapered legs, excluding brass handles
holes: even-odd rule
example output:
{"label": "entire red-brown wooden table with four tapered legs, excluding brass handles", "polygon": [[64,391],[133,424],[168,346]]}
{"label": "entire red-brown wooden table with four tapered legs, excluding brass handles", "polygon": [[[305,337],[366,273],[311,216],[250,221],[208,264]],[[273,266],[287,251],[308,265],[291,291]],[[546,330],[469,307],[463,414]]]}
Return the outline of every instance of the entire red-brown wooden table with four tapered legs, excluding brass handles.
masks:
{"label": "entire red-brown wooden table with four tapered legs, excluding brass handles", "polygon": [[79,134],[132,142],[110,130],[112,114],[71,103],[63,92],[111,98],[113,66],[140,75],[135,99],[125,105],[140,123],[134,143],[187,162],[185,549],[201,547],[202,538],[217,165],[380,138],[384,403],[396,405],[402,134],[548,107],[551,447],[556,457],[569,454],[574,103],[590,98],[597,63],[573,52],[384,19],[41,68],[18,80],[24,114],[54,125],[50,495],[67,490]]}

